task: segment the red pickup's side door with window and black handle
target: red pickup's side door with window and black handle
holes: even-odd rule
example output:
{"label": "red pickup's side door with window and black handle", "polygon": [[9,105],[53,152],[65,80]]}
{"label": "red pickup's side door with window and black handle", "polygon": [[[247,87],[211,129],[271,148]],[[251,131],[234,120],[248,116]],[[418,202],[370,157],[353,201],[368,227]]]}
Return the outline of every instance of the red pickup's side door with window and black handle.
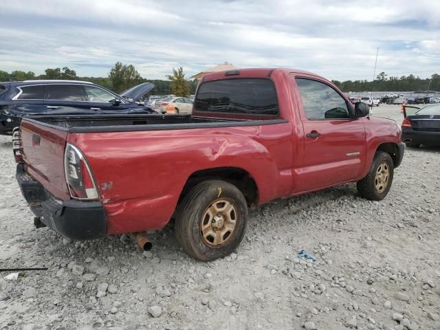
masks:
{"label": "red pickup's side door with window and black handle", "polygon": [[295,78],[304,129],[303,167],[295,192],[358,179],[365,162],[364,122],[349,102],[318,78]]}

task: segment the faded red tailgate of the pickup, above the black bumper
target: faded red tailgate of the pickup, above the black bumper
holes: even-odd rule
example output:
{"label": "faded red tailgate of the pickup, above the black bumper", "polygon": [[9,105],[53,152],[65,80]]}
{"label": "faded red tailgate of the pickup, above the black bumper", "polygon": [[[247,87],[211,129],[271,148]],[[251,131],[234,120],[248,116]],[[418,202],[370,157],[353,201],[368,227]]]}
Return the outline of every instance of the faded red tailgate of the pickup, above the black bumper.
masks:
{"label": "faded red tailgate of the pickup, above the black bumper", "polygon": [[55,197],[70,199],[64,174],[67,131],[26,119],[20,130],[25,172]]}

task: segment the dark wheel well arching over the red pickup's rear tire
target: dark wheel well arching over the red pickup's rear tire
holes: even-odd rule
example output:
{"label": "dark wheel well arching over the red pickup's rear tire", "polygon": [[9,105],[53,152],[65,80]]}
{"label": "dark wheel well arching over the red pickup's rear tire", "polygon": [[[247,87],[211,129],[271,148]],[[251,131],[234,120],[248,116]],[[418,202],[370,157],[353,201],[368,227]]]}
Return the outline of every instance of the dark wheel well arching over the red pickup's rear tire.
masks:
{"label": "dark wheel well arching over the red pickup's rear tire", "polygon": [[233,184],[243,193],[249,205],[256,203],[258,199],[258,187],[256,186],[254,178],[247,171],[242,168],[219,167],[198,170],[192,173],[186,180],[186,184],[179,197],[179,202],[194,186],[210,179],[221,179]]}

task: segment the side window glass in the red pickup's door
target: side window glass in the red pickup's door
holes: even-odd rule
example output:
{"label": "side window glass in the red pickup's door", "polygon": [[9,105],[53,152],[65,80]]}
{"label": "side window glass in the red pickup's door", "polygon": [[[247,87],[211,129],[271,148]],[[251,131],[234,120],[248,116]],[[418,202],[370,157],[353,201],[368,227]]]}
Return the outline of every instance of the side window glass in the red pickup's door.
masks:
{"label": "side window glass in the red pickup's door", "polygon": [[329,85],[317,80],[296,78],[308,120],[351,118],[347,102]]}

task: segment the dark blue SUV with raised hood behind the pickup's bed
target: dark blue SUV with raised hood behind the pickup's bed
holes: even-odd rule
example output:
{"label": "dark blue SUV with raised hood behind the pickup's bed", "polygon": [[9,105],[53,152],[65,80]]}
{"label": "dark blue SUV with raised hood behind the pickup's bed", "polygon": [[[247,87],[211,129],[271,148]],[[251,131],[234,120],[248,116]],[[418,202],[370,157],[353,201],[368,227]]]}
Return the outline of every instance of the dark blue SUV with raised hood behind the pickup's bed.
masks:
{"label": "dark blue SUV with raised hood behind the pickup's bed", "polygon": [[27,115],[156,113],[136,101],[153,89],[143,83],[120,95],[76,80],[26,80],[0,83],[0,134],[9,135]]}

